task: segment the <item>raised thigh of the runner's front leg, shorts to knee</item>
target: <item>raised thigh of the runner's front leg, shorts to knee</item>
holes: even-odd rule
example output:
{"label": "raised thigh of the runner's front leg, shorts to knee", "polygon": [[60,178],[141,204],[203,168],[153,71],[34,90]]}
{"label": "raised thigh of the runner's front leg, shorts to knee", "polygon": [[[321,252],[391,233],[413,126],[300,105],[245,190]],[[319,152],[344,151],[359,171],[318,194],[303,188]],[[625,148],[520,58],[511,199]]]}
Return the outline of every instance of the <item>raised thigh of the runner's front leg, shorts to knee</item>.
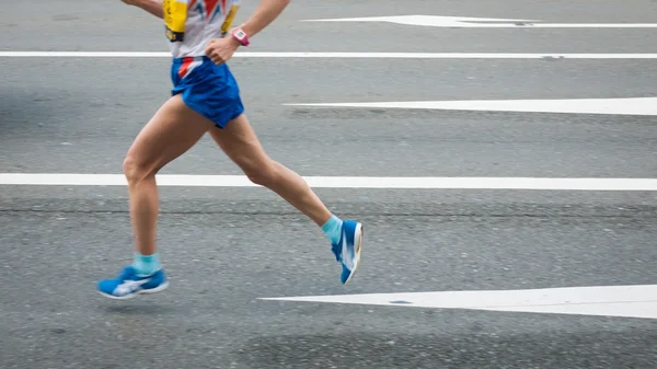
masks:
{"label": "raised thigh of the runner's front leg, shorts to knee", "polygon": [[185,105],[181,95],[172,96],[141,129],[126,160],[148,173],[157,172],[189,150],[212,126]]}

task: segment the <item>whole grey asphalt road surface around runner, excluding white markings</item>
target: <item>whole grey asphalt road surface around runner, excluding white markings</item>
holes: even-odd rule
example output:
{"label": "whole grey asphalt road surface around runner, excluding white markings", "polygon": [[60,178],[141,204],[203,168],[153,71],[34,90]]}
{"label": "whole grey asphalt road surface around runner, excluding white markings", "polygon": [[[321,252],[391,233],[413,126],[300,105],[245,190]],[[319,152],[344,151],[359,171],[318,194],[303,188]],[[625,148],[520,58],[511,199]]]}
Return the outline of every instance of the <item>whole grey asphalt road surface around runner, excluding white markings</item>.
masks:
{"label": "whole grey asphalt road surface around runner, excluding white markings", "polygon": [[[255,9],[245,1],[238,22]],[[654,1],[292,2],[249,51],[657,53],[657,28],[301,22],[382,15],[657,22]],[[0,51],[166,51],[120,1],[3,7]],[[120,174],[166,58],[0,57],[0,173]],[[302,175],[657,177],[657,117],[295,103],[656,96],[655,59],[235,58],[269,154]],[[205,138],[163,174],[241,174]],[[131,260],[115,186],[0,185],[2,368],[655,368],[657,321],[263,300],[657,284],[657,193],[319,188],[365,223],[338,279],[323,234],[264,188],[161,189],[163,293],[95,282]]]}

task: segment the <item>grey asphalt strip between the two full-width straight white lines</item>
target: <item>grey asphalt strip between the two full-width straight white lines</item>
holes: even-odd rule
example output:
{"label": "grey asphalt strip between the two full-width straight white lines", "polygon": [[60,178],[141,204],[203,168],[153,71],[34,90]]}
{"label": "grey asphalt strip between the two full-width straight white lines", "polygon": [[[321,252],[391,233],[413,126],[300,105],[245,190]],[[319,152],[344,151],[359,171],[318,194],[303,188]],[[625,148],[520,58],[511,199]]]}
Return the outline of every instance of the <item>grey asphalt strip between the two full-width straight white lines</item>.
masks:
{"label": "grey asphalt strip between the two full-width straight white lines", "polygon": [[[4,78],[3,136],[15,138],[3,143],[5,171],[120,173],[170,81],[164,59],[126,60],[128,69],[116,62],[0,59],[26,72]],[[235,59],[231,66],[263,145],[307,175],[633,177],[656,170],[645,159],[655,153],[657,117],[283,105],[650,96],[653,60]],[[61,71],[74,78],[61,79]],[[189,171],[238,173],[209,139],[166,169]]]}

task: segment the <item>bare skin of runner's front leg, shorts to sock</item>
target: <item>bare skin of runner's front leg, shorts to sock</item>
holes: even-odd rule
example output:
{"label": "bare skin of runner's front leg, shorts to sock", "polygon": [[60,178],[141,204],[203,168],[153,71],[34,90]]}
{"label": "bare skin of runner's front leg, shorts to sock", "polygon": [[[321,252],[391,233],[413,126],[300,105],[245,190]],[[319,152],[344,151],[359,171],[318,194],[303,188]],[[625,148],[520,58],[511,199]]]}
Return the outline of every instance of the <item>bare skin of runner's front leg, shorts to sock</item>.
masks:
{"label": "bare skin of runner's front leg, shorts to sock", "polygon": [[141,255],[152,255],[157,249],[159,199],[155,174],[189,150],[212,126],[176,95],[162,105],[128,150],[124,174],[128,181],[136,249]]}

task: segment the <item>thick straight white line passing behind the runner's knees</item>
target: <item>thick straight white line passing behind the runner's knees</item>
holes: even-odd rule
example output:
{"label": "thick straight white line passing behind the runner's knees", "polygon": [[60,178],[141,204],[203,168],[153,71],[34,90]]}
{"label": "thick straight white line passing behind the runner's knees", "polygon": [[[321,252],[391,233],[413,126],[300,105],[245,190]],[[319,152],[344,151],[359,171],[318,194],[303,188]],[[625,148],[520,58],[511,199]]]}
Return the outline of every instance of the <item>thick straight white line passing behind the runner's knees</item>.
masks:
{"label": "thick straight white line passing behind the runner's knees", "polygon": [[[161,186],[257,187],[243,175],[160,174]],[[657,178],[304,176],[314,188],[657,191]],[[125,186],[122,174],[0,173],[0,185]]]}

